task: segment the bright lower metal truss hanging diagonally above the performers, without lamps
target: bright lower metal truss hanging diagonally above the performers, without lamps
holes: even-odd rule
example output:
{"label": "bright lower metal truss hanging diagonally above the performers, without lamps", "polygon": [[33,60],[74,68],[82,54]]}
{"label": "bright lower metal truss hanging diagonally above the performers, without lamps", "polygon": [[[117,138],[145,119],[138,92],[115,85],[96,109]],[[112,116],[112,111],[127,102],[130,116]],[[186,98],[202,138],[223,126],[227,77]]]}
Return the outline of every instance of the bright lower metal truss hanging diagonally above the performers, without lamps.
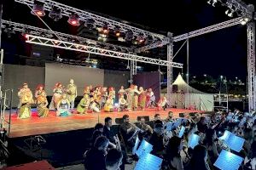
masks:
{"label": "bright lower metal truss hanging diagonally above the performers, without lamps", "polygon": [[48,47],[53,48],[64,48],[69,49],[73,51],[79,51],[89,54],[99,54],[103,56],[118,58],[118,59],[128,59],[128,60],[134,60],[137,62],[143,62],[153,65],[164,65],[164,66],[171,66],[176,68],[183,68],[183,64],[170,62],[166,60],[160,60],[160,59],[152,59],[148,57],[138,56],[136,54],[125,54],[122,52],[117,52],[109,49],[104,48],[96,48],[89,45],[82,45],[79,43],[73,43],[73,42],[64,42],[60,40],[55,40],[48,37],[38,37],[38,36],[32,36],[32,35],[26,35],[26,42],[38,44],[38,45],[44,45]]}

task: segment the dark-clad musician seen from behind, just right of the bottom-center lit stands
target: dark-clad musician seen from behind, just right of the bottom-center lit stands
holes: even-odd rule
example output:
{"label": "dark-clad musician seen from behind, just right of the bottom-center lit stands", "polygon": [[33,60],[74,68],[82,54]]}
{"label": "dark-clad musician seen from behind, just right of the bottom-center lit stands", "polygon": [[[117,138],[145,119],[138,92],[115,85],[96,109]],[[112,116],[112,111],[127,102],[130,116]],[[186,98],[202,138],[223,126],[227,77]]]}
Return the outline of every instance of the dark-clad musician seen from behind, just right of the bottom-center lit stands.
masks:
{"label": "dark-clad musician seen from behind, just right of the bottom-center lit stands", "polygon": [[154,133],[151,135],[149,139],[149,143],[153,145],[152,154],[155,156],[160,156],[163,154],[165,150],[164,146],[164,126],[162,123],[156,123],[154,125]]}

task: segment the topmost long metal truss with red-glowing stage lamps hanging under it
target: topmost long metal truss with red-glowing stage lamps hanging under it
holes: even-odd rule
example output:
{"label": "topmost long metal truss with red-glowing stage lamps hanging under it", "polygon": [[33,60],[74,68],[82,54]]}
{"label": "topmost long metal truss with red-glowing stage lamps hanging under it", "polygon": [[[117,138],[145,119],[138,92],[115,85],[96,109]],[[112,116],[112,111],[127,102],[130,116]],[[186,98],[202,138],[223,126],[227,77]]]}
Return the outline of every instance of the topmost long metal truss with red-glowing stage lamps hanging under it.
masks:
{"label": "topmost long metal truss with red-glowing stage lamps hanging under it", "polygon": [[[92,19],[95,21],[96,26],[105,26],[107,24],[108,28],[112,29],[112,30],[115,30],[118,27],[119,30],[122,32],[132,31],[134,36],[143,34],[143,36],[149,36],[149,37],[152,37],[153,39],[158,39],[160,41],[163,41],[164,38],[166,38],[163,35],[156,34],[156,33],[150,32],[150,31],[144,31],[143,29],[139,29],[134,26],[129,26],[127,24],[118,22],[116,20],[111,20],[106,17],[99,16],[97,14],[92,14],[92,13],[86,12],[86,11],[78,9],[78,8],[73,8],[73,7],[67,6],[65,4],[56,3],[51,0],[37,0],[37,1],[40,3],[43,3],[44,9],[47,11],[51,11],[53,7],[60,8],[62,15],[69,17],[71,14],[78,14],[79,20],[83,20],[86,22],[86,20]],[[34,0],[15,0],[15,2],[23,3],[23,4],[29,5],[31,7],[34,4]]]}

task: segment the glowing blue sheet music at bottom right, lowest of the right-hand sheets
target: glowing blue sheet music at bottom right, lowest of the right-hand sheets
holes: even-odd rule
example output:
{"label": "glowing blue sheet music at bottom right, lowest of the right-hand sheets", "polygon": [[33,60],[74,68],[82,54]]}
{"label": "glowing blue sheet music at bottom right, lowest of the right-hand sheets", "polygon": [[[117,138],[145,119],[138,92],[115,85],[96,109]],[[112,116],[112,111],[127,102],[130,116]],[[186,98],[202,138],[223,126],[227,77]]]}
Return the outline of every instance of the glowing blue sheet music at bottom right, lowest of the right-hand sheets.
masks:
{"label": "glowing blue sheet music at bottom right, lowest of the right-hand sheets", "polygon": [[236,156],[229,151],[222,150],[213,165],[221,170],[237,170],[242,161],[242,157]]}

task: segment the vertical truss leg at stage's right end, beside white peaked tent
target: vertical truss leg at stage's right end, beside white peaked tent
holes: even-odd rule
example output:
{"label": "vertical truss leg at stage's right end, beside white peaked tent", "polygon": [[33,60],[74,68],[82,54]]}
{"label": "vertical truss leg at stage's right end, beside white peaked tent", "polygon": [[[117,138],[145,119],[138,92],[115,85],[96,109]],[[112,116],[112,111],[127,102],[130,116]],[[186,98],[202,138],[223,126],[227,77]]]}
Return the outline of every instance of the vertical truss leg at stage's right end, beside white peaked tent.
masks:
{"label": "vertical truss leg at stage's right end, beside white peaked tent", "polygon": [[[167,45],[167,61],[172,62],[173,59],[173,43]],[[169,107],[172,107],[172,65],[167,65],[167,100]]]}

